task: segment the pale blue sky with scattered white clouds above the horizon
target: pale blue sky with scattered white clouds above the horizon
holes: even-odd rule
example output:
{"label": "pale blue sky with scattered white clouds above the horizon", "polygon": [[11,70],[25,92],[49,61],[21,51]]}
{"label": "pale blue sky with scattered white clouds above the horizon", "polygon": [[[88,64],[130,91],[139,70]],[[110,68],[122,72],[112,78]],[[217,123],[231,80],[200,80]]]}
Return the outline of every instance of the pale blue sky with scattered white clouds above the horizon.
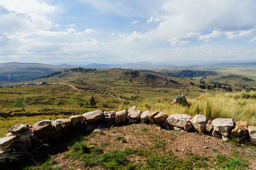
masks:
{"label": "pale blue sky with scattered white clouds above the horizon", "polygon": [[0,62],[241,60],[255,0],[0,0]]}

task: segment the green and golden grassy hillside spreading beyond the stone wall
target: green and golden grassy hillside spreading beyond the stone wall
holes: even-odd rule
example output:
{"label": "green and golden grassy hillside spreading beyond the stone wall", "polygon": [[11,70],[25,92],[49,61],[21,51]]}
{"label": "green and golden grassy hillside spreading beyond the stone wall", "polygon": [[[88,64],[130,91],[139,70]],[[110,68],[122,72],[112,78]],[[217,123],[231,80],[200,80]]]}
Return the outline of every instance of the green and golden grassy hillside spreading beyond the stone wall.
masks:
{"label": "green and golden grassy hillside spreading beyond the stone wall", "polygon": [[[230,83],[233,89],[236,85],[256,87],[255,81],[246,81],[240,76],[230,81],[230,76],[227,77],[225,83]],[[212,76],[204,81],[207,84],[213,80],[222,81],[220,76]],[[174,78],[157,73],[139,72],[137,74],[130,69],[99,69],[86,74],[70,71],[36,81],[57,82],[58,85],[0,89],[0,112],[12,114],[73,111],[82,114],[99,109],[118,111],[137,105],[143,111],[166,111],[169,115],[201,113],[209,118],[230,117],[235,121],[243,118],[251,125],[255,125],[256,122],[253,92],[226,94],[223,89],[201,89],[198,86],[202,83],[200,80]],[[27,83],[33,83],[33,81]],[[170,104],[179,94],[187,97],[189,107]],[[244,97],[248,95],[249,97]],[[97,103],[95,108],[89,104],[92,96]],[[55,117],[47,116],[47,118]],[[40,119],[42,117],[20,120],[24,124],[34,124]],[[15,118],[2,118],[0,136],[6,134],[8,128],[15,124],[19,124],[15,122]]]}

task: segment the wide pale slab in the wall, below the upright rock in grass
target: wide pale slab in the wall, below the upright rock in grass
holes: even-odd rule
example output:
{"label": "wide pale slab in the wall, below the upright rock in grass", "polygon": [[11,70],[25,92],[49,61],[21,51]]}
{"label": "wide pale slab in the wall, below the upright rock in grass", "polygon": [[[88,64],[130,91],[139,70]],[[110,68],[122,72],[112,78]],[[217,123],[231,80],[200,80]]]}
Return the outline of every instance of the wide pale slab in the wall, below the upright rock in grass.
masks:
{"label": "wide pale slab in the wall, below the upright rock in grass", "polygon": [[184,125],[188,124],[190,120],[191,116],[177,113],[170,115],[170,117],[166,118],[165,122],[169,125],[184,127]]}

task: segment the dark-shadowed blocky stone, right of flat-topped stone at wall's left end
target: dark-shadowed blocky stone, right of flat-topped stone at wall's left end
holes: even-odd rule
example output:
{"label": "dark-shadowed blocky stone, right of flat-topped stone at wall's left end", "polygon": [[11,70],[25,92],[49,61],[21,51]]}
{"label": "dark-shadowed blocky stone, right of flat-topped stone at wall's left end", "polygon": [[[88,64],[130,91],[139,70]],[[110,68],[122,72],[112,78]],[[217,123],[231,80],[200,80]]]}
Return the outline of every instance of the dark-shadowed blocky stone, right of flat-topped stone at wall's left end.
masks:
{"label": "dark-shadowed blocky stone, right of flat-topped stone at wall's left end", "polygon": [[31,131],[34,132],[34,134],[38,138],[49,138],[54,134],[54,131],[52,129],[52,125],[33,125],[31,127]]}

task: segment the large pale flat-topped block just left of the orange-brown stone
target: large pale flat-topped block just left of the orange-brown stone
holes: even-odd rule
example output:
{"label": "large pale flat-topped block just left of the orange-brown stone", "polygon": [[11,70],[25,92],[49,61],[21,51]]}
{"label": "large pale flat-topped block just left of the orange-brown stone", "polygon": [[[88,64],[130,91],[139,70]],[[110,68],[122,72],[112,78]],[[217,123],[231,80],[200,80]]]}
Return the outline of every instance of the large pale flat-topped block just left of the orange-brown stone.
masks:
{"label": "large pale flat-topped block just left of the orange-brown stone", "polygon": [[213,129],[224,136],[228,136],[234,122],[231,118],[216,118],[212,120]]}

